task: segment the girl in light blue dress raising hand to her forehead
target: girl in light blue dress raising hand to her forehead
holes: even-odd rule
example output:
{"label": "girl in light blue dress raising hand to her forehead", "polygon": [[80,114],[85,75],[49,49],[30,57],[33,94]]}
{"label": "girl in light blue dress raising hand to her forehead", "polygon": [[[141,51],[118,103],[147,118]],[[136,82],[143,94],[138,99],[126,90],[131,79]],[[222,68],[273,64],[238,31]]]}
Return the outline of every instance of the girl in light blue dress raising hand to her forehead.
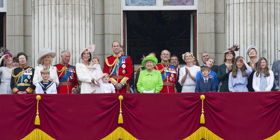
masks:
{"label": "girl in light blue dress raising hand to her forehead", "polygon": [[[245,70],[245,66],[247,70]],[[228,79],[228,90],[230,92],[248,92],[247,76],[252,73],[252,68],[244,61],[243,57],[237,56],[234,60]]]}

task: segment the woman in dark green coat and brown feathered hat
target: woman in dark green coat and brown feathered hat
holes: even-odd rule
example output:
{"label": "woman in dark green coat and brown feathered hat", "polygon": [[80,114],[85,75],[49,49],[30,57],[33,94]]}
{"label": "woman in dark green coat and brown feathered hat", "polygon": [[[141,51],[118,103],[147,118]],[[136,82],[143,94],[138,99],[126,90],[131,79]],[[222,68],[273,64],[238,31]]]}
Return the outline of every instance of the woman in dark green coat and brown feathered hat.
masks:
{"label": "woman in dark green coat and brown feathered hat", "polygon": [[222,82],[220,86],[220,92],[229,92],[228,90],[228,77],[229,73],[232,72],[232,65],[235,60],[235,53],[234,51],[238,51],[239,45],[233,45],[231,48],[227,49],[223,54],[224,56],[224,63],[219,66],[218,68],[218,81]]}

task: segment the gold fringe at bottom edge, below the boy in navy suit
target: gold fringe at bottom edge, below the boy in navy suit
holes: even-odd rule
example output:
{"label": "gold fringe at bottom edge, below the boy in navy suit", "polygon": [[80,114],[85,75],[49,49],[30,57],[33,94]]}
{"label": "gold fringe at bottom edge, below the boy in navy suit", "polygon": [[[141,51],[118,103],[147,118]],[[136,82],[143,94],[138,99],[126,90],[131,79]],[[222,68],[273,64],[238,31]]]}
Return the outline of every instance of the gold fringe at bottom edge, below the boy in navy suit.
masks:
{"label": "gold fringe at bottom edge, below the boy in navy suit", "polygon": [[198,130],[196,130],[194,133],[192,133],[189,137],[183,139],[183,140],[199,140],[199,139],[206,139],[206,140],[223,140],[217,135],[215,135],[213,132],[208,130],[206,127],[200,127]]}

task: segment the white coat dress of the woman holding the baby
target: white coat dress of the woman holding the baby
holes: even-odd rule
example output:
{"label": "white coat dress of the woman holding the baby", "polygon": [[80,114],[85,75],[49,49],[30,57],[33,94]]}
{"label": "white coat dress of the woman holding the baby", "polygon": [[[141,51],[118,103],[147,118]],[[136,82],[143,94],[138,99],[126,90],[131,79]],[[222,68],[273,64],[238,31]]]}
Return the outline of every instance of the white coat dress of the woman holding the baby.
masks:
{"label": "white coat dress of the woman holding the baby", "polygon": [[[81,93],[91,93],[90,83],[91,79],[91,70],[86,67],[83,63],[76,64],[76,73],[78,79],[82,82],[81,84]],[[100,93],[100,87],[98,84],[94,83],[95,91],[93,93]]]}

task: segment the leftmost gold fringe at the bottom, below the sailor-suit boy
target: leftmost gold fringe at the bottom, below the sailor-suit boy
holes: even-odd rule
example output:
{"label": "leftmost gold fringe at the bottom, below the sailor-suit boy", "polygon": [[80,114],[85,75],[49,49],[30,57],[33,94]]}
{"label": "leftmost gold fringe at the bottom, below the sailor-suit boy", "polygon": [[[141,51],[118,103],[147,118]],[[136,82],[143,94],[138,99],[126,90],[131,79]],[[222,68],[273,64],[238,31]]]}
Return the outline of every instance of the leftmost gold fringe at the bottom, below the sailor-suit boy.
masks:
{"label": "leftmost gold fringe at the bottom, below the sailor-suit boy", "polygon": [[30,134],[28,134],[21,140],[38,140],[38,139],[55,140],[40,129],[34,129]]}

